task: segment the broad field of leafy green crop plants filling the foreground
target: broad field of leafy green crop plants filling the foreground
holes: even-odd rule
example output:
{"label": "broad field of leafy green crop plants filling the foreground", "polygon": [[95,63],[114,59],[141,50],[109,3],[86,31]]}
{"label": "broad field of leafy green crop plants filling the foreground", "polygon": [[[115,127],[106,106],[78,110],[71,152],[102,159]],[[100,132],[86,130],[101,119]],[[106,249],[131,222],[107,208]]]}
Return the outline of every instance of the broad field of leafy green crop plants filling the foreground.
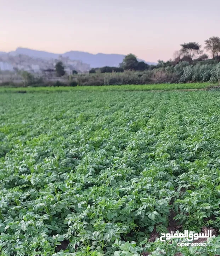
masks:
{"label": "broad field of leafy green crop plants filling the foreground", "polygon": [[219,92],[75,88],[0,94],[0,255],[220,254]]}

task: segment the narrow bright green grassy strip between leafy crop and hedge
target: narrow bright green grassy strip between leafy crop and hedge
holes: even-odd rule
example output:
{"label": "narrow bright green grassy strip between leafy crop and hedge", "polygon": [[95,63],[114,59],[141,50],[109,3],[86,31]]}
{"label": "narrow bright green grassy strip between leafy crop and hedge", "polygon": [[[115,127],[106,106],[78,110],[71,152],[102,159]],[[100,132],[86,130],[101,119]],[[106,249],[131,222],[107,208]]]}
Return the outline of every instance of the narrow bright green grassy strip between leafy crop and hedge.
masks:
{"label": "narrow bright green grassy strip between leafy crop and hedge", "polygon": [[151,90],[185,90],[203,89],[210,86],[209,82],[190,84],[151,84],[151,85],[104,85],[76,87],[0,87],[2,92],[54,92],[54,91],[151,91]]}

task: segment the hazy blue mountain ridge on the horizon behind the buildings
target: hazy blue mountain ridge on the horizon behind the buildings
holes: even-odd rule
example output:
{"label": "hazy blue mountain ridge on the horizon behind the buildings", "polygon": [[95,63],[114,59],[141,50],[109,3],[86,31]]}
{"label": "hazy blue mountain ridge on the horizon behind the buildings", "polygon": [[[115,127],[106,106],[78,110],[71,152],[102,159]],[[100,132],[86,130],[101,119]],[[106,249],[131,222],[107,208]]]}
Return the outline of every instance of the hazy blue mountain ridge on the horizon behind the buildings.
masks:
{"label": "hazy blue mountain ridge on the horizon behind the buildings", "polygon": [[[0,54],[4,54],[4,52],[0,52]],[[100,68],[102,66],[118,66],[125,57],[122,54],[105,54],[98,53],[92,54],[88,52],[78,52],[78,51],[70,51],[66,53],[56,54],[50,52],[44,52],[39,50],[32,50],[28,48],[19,47],[15,50],[15,52],[10,52],[12,55],[24,54],[29,57],[34,58],[42,58],[42,59],[57,59],[59,55],[63,57],[69,57],[72,60],[81,60],[83,63],[89,64],[91,68]],[[144,61],[145,60],[140,60]],[[146,62],[149,65],[157,65],[155,62]]]}

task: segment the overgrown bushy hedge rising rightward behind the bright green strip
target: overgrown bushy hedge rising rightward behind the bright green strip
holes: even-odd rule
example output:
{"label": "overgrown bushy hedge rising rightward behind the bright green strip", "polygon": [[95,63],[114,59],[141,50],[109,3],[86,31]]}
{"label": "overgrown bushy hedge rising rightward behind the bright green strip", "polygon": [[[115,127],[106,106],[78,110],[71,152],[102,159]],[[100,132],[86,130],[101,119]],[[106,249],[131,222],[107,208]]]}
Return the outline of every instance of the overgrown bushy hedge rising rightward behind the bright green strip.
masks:
{"label": "overgrown bushy hedge rising rightward behind the bright green strip", "polygon": [[[218,82],[220,81],[220,63],[192,64],[180,62],[175,66],[154,68],[145,71],[124,71],[113,73],[88,73],[75,75],[64,82],[28,81],[23,86],[85,86],[85,85],[129,85],[129,84],[164,84],[186,82]],[[16,86],[13,83],[5,86]]]}

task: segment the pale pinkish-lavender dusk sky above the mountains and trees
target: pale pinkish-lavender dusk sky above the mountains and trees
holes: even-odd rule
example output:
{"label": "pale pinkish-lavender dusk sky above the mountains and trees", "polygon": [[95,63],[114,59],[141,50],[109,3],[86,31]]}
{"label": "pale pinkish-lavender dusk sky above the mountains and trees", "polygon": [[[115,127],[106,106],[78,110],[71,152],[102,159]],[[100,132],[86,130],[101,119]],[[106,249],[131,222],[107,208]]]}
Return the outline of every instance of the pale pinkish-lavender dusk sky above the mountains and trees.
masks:
{"label": "pale pinkish-lavender dusk sky above the mountains and trees", "polygon": [[0,51],[135,54],[167,61],[220,36],[219,0],[0,0]]}

